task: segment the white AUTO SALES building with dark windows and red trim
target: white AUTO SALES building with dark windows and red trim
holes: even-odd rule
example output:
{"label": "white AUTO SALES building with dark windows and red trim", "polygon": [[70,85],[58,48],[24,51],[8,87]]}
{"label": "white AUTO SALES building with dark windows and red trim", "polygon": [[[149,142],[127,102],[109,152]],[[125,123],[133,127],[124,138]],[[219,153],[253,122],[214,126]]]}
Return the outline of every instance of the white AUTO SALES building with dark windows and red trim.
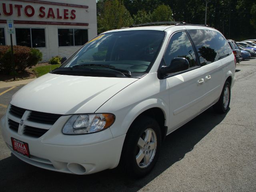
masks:
{"label": "white AUTO SALES building with dark windows and red trim", "polygon": [[14,45],[38,48],[43,61],[70,56],[97,35],[96,0],[1,0],[0,44],[10,45],[7,19],[14,20]]}

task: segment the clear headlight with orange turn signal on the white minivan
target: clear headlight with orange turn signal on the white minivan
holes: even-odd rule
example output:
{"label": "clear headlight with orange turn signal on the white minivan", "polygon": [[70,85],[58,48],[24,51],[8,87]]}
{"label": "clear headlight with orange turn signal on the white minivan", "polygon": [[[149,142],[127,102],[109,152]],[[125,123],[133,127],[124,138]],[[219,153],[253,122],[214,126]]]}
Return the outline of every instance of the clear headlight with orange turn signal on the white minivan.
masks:
{"label": "clear headlight with orange turn signal on the white minivan", "polygon": [[110,113],[73,115],[62,129],[63,134],[94,133],[109,128],[115,121]]}

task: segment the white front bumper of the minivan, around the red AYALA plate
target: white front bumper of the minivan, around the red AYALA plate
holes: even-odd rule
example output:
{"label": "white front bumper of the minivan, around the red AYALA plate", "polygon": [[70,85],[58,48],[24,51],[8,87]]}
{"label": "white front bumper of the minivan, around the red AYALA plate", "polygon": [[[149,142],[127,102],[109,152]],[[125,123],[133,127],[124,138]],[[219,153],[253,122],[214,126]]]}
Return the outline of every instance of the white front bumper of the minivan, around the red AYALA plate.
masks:
{"label": "white front bumper of the minivan, around the red AYALA plate", "polygon": [[[60,117],[40,138],[20,135],[8,126],[6,114],[0,121],[2,136],[11,152],[40,168],[72,174],[92,174],[115,168],[120,160],[125,134],[113,138],[110,129],[84,135],[62,134],[70,116]],[[30,158],[12,149],[11,137],[28,143]]]}

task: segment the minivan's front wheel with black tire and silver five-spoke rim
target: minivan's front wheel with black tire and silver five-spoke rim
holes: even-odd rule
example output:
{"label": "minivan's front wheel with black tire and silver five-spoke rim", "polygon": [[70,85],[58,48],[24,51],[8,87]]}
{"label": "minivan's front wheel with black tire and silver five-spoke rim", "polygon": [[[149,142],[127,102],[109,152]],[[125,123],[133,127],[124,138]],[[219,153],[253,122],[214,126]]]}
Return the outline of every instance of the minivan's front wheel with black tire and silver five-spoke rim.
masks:
{"label": "minivan's front wheel with black tire and silver five-spoke rim", "polygon": [[156,164],[161,147],[161,130],[153,118],[143,116],[128,130],[121,156],[121,166],[128,176],[146,176]]}

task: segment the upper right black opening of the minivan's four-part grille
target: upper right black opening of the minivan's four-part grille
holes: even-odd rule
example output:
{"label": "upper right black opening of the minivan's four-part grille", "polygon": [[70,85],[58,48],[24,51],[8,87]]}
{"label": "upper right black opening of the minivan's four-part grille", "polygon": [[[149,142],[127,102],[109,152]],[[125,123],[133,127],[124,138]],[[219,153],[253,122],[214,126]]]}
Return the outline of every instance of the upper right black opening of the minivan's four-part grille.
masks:
{"label": "upper right black opening of the minivan's four-part grille", "polygon": [[61,115],[32,111],[28,120],[53,125]]}

